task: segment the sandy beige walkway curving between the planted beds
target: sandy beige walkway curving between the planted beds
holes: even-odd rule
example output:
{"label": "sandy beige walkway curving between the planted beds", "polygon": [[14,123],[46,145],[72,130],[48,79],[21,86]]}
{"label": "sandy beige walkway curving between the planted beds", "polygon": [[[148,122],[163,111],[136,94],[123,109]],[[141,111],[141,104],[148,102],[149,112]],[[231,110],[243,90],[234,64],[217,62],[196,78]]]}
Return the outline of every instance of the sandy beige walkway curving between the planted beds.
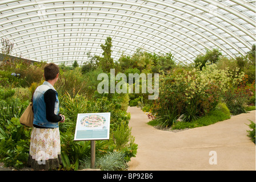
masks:
{"label": "sandy beige walkway curving between the planted beds", "polygon": [[[138,144],[130,170],[255,170],[255,144],[247,137],[255,110],[210,126],[173,133],[147,125],[146,114],[129,107],[131,133]],[[214,151],[214,155],[209,155]],[[217,164],[210,164],[209,159]]]}

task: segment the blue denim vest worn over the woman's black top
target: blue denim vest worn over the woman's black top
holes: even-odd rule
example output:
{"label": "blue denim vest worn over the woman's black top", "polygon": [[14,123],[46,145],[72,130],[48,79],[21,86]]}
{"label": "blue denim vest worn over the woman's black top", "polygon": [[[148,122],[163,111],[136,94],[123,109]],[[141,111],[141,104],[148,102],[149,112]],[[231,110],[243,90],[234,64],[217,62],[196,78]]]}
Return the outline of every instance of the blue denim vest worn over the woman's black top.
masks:
{"label": "blue denim vest worn over the woman's black top", "polygon": [[53,89],[56,93],[56,102],[54,106],[54,114],[59,114],[59,100],[58,93],[54,89],[53,85],[45,81],[42,85],[35,89],[33,95],[33,109],[34,109],[34,120],[33,124],[42,127],[56,128],[59,127],[58,122],[49,122],[46,119],[46,105],[45,105],[45,92],[49,89]]}

